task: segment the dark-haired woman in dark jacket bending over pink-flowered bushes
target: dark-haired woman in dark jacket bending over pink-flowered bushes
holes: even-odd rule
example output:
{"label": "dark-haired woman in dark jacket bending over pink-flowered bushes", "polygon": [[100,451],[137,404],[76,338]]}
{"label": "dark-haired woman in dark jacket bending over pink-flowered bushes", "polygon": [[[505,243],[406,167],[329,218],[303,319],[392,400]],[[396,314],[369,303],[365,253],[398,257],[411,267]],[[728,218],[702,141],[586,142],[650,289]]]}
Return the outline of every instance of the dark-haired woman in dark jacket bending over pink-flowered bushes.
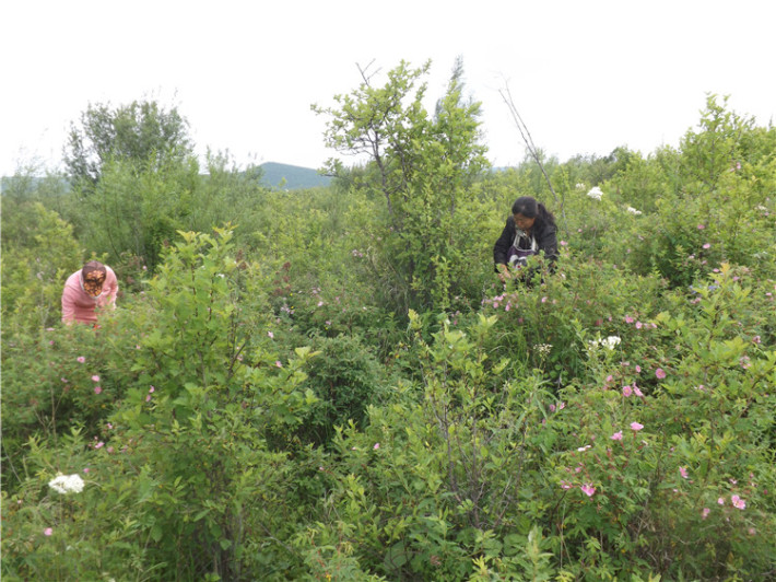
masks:
{"label": "dark-haired woman in dark jacket bending over pink-flowered bushes", "polygon": [[502,281],[512,279],[516,270],[525,267],[529,255],[543,252],[550,268],[557,258],[555,217],[544,205],[530,196],[521,196],[512,205],[512,214],[493,246],[493,263]]}

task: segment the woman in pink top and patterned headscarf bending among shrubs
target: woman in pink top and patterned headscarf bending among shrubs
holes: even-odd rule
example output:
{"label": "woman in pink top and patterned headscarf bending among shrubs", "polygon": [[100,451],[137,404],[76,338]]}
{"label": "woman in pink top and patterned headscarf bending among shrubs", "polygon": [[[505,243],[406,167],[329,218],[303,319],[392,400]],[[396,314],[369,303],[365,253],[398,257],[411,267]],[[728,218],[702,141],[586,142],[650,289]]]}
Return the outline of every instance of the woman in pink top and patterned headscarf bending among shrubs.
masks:
{"label": "woman in pink top and patterned headscarf bending among shrubs", "polygon": [[107,265],[90,260],[68,277],[62,291],[62,322],[97,322],[97,309],[116,307],[118,280]]}

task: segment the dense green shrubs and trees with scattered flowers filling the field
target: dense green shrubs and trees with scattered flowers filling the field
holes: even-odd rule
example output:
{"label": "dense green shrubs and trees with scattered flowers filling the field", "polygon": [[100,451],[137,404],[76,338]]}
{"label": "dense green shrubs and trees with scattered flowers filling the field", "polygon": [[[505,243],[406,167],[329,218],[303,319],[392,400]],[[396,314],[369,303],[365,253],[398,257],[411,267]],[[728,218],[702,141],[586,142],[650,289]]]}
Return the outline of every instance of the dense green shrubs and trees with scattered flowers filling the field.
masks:
{"label": "dense green shrubs and trees with scattered flowers filling the field", "polygon": [[[317,108],[365,160],[327,188],[156,103],[7,184],[4,579],[776,577],[776,129],[709,95],[677,147],[495,171],[427,69]],[[521,195],[561,256],[505,287]],[[118,306],[62,325],[91,258]]]}

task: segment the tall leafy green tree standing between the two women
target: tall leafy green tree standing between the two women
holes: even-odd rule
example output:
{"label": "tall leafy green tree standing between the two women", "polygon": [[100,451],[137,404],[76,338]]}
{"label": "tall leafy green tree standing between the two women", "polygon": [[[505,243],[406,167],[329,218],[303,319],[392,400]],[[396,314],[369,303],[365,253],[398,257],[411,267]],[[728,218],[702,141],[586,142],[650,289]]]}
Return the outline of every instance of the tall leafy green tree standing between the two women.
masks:
{"label": "tall leafy green tree standing between the two women", "polygon": [[[384,222],[371,237],[379,254],[375,268],[403,313],[432,302],[444,309],[458,292],[450,281],[460,287],[467,280],[457,266],[471,265],[465,257],[478,214],[468,188],[487,166],[486,148],[479,143],[480,103],[462,96],[460,60],[434,116],[423,106],[426,85],[418,84],[430,65],[410,69],[402,61],[381,88],[374,86],[368,67],[360,69],[358,89],[334,97],[339,109],[314,106],[331,118],[325,133],[329,147],[366,154],[377,168],[366,183],[386,201]],[[326,170],[343,174],[338,161],[330,160]]]}

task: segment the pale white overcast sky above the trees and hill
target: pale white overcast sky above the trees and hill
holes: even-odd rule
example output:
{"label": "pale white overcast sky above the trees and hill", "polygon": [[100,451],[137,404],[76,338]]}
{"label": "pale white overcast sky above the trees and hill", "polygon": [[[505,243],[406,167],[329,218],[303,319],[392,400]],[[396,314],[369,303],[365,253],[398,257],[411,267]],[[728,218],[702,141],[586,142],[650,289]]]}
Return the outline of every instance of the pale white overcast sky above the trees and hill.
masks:
{"label": "pale white overcast sky above the trees and hill", "polygon": [[[678,146],[706,94],[776,121],[776,1],[19,0],[0,8],[0,174],[60,164],[90,103],[178,107],[199,153],[320,167],[326,119],[362,67],[432,60],[428,107],[463,59],[494,165]],[[381,84],[384,78],[378,78]]]}

